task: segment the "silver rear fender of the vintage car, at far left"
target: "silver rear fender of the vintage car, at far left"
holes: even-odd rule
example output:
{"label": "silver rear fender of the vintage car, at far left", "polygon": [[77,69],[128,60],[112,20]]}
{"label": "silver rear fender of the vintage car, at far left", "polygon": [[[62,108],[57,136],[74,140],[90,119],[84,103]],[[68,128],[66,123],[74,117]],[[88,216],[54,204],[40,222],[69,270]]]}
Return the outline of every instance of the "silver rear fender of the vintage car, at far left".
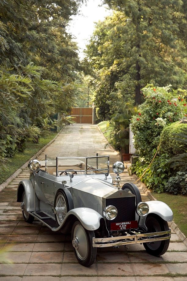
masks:
{"label": "silver rear fender of the vintage car, at far left", "polygon": [[[35,197],[34,187],[32,185],[31,180],[23,180],[19,183],[17,188],[17,202],[21,202],[22,194],[25,191],[26,194],[26,206],[27,211],[35,210],[35,200],[36,200],[36,210],[39,209],[39,200]],[[35,199],[36,198],[36,199]]]}

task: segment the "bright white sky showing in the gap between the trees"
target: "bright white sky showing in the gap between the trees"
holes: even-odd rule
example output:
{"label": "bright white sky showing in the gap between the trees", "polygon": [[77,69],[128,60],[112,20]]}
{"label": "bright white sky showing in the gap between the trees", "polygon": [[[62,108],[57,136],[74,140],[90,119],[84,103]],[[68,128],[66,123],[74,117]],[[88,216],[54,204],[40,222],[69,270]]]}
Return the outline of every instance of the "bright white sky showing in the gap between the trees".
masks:
{"label": "bright white sky showing in the gap between the trees", "polygon": [[79,14],[73,16],[70,22],[69,32],[75,36],[75,41],[78,43],[80,59],[84,57],[83,50],[94,31],[94,22],[102,21],[110,14],[107,6],[98,6],[101,4],[101,0],[89,0],[87,4],[84,3],[80,7]]}

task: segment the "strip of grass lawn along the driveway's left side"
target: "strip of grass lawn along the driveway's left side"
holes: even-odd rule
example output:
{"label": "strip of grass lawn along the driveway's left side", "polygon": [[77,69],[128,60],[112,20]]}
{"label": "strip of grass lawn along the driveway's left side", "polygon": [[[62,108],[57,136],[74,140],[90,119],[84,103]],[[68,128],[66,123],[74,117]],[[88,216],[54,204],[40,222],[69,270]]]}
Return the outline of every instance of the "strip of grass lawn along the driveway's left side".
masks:
{"label": "strip of grass lawn along the driveway's left side", "polygon": [[6,167],[0,166],[0,184],[5,182],[16,170],[18,170],[25,162],[35,155],[42,147],[48,144],[57,133],[50,133],[46,138],[40,138],[39,143],[35,144],[32,141],[27,141],[24,152],[17,152],[13,157],[6,162]]}

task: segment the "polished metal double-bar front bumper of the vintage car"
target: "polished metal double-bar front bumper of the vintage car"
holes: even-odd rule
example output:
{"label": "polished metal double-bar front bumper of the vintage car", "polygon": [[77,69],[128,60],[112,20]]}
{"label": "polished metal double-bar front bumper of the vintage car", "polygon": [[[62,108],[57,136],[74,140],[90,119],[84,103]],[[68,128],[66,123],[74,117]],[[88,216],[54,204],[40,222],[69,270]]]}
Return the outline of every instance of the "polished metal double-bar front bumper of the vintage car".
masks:
{"label": "polished metal double-bar front bumper of the vintage car", "polygon": [[137,244],[137,243],[156,242],[161,240],[167,240],[170,238],[171,238],[171,229],[167,231],[109,237],[109,238],[93,237],[93,247],[103,248],[103,247],[130,245],[130,244]]}

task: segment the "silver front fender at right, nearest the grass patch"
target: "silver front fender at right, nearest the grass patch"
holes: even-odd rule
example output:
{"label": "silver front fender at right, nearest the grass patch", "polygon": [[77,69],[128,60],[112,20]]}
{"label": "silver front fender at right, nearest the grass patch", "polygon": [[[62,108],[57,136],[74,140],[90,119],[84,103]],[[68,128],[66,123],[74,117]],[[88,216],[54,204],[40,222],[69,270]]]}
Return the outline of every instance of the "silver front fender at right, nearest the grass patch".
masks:
{"label": "silver front fender at right, nearest the grass patch", "polygon": [[161,201],[146,201],[149,205],[149,212],[145,216],[140,216],[139,226],[142,227],[145,231],[147,231],[147,227],[145,226],[145,219],[149,214],[155,214],[160,216],[163,220],[167,222],[171,222],[173,220],[173,212],[171,208]]}

